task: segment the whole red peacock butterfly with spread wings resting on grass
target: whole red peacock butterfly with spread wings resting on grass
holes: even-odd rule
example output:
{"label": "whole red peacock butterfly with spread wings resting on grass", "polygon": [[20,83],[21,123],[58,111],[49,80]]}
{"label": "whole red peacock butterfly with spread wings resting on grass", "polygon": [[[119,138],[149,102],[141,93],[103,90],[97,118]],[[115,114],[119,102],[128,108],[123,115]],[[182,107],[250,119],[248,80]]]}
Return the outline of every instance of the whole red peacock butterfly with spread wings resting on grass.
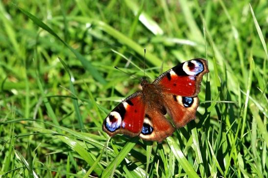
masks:
{"label": "whole red peacock butterfly with spread wings resting on grass", "polygon": [[192,59],[164,72],[152,83],[142,79],[143,90],[124,99],[109,113],[103,121],[103,131],[111,137],[125,134],[162,142],[175,128],[195,119],[197,94],[208,72],[206,60]]}

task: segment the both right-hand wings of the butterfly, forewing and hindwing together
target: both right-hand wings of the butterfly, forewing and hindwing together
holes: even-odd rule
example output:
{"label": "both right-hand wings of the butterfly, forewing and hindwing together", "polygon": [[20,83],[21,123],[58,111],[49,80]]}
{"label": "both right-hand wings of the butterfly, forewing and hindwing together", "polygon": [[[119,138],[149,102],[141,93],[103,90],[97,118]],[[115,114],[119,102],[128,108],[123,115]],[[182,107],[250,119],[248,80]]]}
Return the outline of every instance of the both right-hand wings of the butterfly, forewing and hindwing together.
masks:
{"label": "both right-hand wings of the butterfly, forewing and hindwing together", "polygon": [[176,128],[195,119],[197,94],[202,77],[208,72],[206,60],[192,59],[171,68],[153,82],[160,86],[164,106]]}

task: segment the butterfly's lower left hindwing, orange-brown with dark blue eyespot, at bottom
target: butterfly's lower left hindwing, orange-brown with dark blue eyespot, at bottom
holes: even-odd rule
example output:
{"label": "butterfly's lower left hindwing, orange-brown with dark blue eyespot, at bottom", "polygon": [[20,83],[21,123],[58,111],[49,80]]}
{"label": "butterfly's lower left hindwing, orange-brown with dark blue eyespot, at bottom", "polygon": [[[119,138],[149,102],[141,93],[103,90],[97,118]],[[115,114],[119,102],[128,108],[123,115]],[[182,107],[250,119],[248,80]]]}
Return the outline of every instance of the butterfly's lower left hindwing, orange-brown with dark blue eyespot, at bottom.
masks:
{"label": "butterfly's lower left hindwing, orange-brown with dark blue eyespot, at bottom", "polygon": [[149,141],[162,142],[163,139],[171,136],[174,130],[175,128],[160,110],[148,108],[146,109],[143,128],[139,137]]}

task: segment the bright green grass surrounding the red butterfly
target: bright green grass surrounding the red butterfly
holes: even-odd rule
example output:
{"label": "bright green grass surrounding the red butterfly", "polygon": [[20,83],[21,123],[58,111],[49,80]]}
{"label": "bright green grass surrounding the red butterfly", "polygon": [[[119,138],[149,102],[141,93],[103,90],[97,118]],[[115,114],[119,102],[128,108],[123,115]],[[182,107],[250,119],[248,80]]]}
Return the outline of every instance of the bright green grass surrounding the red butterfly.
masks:
{"label": "bright green grass surrounding the red butterfly", "polygon": [[[250,4],[251,6],[250,6]],[[252,8],[251,8],[252,7]],[[267,0],[0,1],[0,177],[268,177]],[[162,71],[208,59],[162,144],[101,130]]]}

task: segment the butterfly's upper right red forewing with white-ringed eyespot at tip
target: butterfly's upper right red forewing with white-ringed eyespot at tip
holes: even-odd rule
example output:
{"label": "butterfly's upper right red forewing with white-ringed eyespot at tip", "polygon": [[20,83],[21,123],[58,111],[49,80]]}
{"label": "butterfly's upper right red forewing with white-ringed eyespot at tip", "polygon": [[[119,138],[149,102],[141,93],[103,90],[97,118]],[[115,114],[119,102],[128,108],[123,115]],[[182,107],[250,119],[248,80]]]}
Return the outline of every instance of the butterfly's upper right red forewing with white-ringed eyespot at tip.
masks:
{"label": "butterfly's upper right red forewing with white-ringed eyespot at tip", "polygon": [[158,84],[164,93],[196,97],[200,91],[202,77],[208,72],[206,60],[192,59],[171,68],[153,83]]}

